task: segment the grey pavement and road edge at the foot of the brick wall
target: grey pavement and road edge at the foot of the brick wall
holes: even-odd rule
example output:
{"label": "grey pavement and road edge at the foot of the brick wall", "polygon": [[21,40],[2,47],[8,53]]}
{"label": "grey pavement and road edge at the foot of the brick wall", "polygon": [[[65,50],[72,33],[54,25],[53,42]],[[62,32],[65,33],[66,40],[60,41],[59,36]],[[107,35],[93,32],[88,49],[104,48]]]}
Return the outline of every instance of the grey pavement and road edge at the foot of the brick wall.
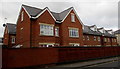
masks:
{"label": "grey pavement and road edge at the foot of the brick wall", "polygon": [[98,59],[98,60],[89,60],[84,62],[77,62],[77,63],[70,63],[70,64],[62,64],[57,65],[52,68],[73,68],[73,69],[83,69],[89,67],[118,67],[120,66],[120,57],[112,57],[112,58],[105,58],[105,59]]}

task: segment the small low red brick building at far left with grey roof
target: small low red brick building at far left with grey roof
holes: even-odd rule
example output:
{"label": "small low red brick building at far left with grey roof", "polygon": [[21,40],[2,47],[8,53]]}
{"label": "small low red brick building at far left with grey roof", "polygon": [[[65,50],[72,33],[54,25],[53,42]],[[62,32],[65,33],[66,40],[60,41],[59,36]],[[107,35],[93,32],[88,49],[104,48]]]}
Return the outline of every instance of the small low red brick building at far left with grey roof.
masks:
{"label": "small low red brick building at far left with grey roof", "polygon": [[16,24],[7,23],[5,25],[3,45],[12,47],[15,45]]}

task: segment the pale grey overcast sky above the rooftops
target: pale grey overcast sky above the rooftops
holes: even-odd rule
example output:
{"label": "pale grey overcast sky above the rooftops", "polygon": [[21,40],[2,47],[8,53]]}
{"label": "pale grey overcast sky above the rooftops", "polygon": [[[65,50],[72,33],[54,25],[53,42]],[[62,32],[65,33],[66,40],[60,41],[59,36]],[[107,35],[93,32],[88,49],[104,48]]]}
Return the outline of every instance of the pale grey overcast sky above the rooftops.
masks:
{"label": "pale grey overcast sky above the rooftops", "polygon": [[[119,0],[0,0],[0,37],[3,36],[4,23],[16,24],[22,4],[61,12],[74,7],[85,25],[97,25],[105,29],[118,29]],[[7,20],[5,19],[7,18]]]}

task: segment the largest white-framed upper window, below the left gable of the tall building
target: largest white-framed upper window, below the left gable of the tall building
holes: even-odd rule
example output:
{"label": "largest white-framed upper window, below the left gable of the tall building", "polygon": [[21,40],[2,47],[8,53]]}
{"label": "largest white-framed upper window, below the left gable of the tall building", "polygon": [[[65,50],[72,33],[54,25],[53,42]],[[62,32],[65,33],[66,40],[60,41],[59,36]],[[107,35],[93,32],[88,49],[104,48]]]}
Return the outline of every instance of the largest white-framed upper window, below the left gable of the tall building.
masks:
{"label": "largest white-framed upper window, below the left gable of the tall building", "polygon": [[40,35],[53,36],[53,26],[40,24]]}

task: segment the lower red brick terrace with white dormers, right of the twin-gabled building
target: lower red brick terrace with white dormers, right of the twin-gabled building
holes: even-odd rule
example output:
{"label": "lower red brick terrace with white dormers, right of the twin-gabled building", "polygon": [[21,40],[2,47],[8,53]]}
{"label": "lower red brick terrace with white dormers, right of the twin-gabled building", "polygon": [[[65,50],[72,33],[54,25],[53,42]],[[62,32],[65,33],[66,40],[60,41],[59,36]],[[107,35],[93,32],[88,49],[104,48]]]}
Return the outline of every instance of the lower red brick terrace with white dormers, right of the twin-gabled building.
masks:
{"label": "lower red brick terrace with white dormers, right of the twin-gabled building", "polygon": [[112,30],[84,25],[83,43],[84,46],[116,46],[117,39]]}

